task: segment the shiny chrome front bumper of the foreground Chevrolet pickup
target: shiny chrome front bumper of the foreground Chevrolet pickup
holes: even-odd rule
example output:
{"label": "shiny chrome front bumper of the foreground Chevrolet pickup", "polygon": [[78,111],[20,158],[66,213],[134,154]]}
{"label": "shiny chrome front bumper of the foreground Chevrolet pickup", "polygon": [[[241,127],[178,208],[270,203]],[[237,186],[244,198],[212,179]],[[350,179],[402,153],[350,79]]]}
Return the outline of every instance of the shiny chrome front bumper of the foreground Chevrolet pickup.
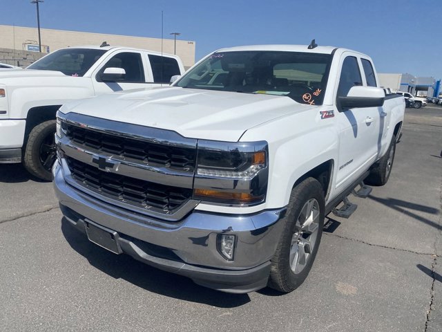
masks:
{"label": "shiny chrome front bumper of the foreground Chevrolet pickup", "polygon": [[[55,192],[65,220],[85,232],[92,221],[117,232],[122,252],[144,263],[229,293],[247,293],[267,285],[270,259],[283,229],[285,209],[258,214],[213,214],[193,210],[166,222],[124,210],[88,196],[64,181],[59,162],[53,168]],[[217,250],[218,234],[235,234],[235,260]]]}

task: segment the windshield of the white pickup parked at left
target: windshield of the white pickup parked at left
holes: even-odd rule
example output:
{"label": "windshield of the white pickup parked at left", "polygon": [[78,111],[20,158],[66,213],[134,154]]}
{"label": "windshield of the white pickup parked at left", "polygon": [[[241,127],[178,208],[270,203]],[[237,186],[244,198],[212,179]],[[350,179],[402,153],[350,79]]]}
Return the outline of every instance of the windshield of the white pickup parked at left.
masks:
{"label": "windshield of the white pickup parked at left", "polygon": [[61,71],[64,75],[83,76],[106,50],[90,48],[66,48],[56,50],[34,62],[27,69],[40,71]]}

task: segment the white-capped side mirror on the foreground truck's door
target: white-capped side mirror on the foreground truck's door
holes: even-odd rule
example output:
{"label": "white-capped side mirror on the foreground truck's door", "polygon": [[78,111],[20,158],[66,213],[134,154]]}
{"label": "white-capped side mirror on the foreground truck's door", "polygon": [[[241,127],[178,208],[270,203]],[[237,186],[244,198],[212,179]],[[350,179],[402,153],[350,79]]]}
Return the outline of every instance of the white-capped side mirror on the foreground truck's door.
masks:
{"label": "white-capped side mirror on the foreground truck's door", "polygon": [[352,86],[347,97],[338,97],[340,110],[357,107],[381,107],[384,104],[385,92],[374,86]]}

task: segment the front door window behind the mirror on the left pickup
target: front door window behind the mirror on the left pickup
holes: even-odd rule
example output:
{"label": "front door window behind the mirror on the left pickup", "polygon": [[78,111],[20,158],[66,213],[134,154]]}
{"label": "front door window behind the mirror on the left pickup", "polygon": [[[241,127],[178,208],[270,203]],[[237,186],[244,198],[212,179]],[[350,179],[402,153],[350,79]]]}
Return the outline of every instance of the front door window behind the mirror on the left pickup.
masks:
{"label": "front door window behind the mirror on the left pickup", "polygon": [[144,83],[144,68],[140,53],[124,52],[112,57],[99,71],[103,73],[106,68],[123,68],[126,76],[118,82]]}

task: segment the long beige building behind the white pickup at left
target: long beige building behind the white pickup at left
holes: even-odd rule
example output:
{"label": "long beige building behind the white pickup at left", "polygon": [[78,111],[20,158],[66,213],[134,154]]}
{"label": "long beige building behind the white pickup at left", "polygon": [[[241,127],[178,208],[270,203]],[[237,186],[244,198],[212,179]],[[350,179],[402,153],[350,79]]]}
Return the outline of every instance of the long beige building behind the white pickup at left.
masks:
{"label": "long beige building behind the white pickup at left", "polygon": [[[111,46],[128,46],[144,48],[164,53],[174,53],[174,39],[133,37],[123,35],[106,35],[103,33],[81,33],[78,31],[41,29],[42,52],[48,53],[59,48],[80,45],[100,45],[108,42]],[[0,48],[14,50],[38,50],[37,28],[25,28],[22,26],[1,26],[0,25]],[[195,42],[177,39],[176,54],[182,59],[187,69],[195,63]],[[1,60],[0,60],[1,62]]]}

